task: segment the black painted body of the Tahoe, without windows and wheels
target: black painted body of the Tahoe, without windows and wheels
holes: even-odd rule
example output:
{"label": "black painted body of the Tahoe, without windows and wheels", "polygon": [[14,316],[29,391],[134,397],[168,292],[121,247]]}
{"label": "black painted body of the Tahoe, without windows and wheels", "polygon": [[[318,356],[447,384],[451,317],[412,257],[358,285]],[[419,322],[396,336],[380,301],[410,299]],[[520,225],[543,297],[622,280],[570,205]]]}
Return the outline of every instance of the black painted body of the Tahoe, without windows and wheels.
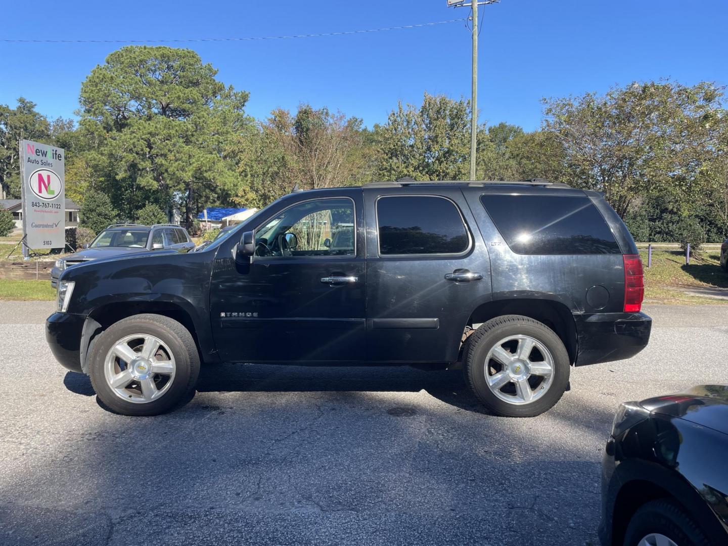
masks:
{"label": "black painted body of the Tahoe, without windows and wheels", "polygon": [[[177,309],[175,316],[185,317],[206,362],[447,365],[458,360],[462,333],[478,309],[499,302],[546,301],[573,321],[566,328],[573,339],[566,344],[574,347],[574,363],[626,358],[641,350],[649,341],[651,320],[645,314],[622,313],[622,255],[514,253],[480,201],[483,195],[504,193],[544,199],[586,195],[622,252],[636,253],[632,237],[604,199],[577,189],[450,183],[300,191],[278,199],[199,252],[157,250],[68,268],[61,280],[76,283],[68,314],[103,323],[103,314],[120,306],[132,305],[142,309],[139,312],[145,312],[145,306]],[[376,202],[395,195],[451,202],[464,222],[467,250],[456,255],[380,256]],[[242,233],[282,210],[306,200],[341,197],[355,205],[354,254],[236,256]],[[446,278],[462,272],[481,278]],[[321,282],[331,276],[354,281]],[[593,290],[596,285],[598,292]],[[589,290],[592,296],[587,297]],[[90,338],[92,328],[71,331],[63,326],[65,320],[50,317],[47,336],[62,348],[58,354],[63,352],[64,361],[83,360],[87,347],[78,349],[79,340],[60,337],[85,331]],[[74,351],[79,356],[66,355]]]}

